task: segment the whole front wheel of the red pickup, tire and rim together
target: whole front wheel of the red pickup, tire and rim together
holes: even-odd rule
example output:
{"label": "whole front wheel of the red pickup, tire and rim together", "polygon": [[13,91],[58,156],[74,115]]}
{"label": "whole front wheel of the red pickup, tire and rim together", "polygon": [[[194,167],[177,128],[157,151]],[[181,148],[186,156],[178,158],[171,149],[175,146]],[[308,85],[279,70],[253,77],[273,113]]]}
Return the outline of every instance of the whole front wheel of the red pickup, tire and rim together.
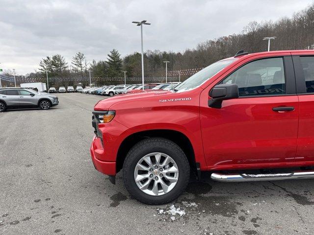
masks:
{"label": "whole front wheel of the red pickup, tire and rim together", "polygon": [[173,141],[149,138],[135,144],[123,164],[129,193],[146,204],[165,204],[185,190],[190,166],[183,150]]}

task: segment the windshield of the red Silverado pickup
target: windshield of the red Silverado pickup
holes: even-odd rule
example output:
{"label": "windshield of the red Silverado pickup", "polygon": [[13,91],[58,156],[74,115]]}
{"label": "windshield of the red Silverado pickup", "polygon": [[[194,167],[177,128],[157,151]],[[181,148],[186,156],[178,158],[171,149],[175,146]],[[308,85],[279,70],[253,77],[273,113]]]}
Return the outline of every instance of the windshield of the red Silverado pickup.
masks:
{"label": "windshield of the red Silverado pickup", "polygon": [[194,88],[201,86],[205,81],[207,81],[217,72],[221,71],[222,69],[224,69],[225,67],[233,63],[234,61],[235,59],[222,60],[222,61],[218,61],[216,63],[209,65],[205,69],[190,76],[180,85],[176,86],[175,91],[183,92],[183,91],[192,90]]}

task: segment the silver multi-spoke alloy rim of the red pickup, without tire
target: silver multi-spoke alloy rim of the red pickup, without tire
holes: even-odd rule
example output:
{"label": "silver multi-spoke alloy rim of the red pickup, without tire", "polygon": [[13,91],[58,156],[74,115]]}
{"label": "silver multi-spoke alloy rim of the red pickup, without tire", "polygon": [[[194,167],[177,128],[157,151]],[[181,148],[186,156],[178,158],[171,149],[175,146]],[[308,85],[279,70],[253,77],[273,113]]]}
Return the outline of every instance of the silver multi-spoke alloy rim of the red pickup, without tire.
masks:
{"label": "silver multi-spoke alloy rim of the red pickup, without tire", "polygon": [[142,157],[134,169],[137,187],[148,195],[159,196],[170,192],[179,179],[179,168],[167,154],[150,153]]}

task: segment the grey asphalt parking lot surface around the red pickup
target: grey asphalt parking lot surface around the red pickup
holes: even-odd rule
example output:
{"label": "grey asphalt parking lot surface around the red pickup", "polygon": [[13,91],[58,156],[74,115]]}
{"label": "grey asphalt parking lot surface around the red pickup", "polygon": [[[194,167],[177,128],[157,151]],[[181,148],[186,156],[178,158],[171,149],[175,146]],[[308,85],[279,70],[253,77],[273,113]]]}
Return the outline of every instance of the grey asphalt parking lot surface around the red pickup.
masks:
{"label": "grey asphalt parking lot surface around the red pickup", "polygon": [[148,206],[94,169],[91,112],[104,96],[0,114],[0,234],[313,234],[314,181],[192,182]]}

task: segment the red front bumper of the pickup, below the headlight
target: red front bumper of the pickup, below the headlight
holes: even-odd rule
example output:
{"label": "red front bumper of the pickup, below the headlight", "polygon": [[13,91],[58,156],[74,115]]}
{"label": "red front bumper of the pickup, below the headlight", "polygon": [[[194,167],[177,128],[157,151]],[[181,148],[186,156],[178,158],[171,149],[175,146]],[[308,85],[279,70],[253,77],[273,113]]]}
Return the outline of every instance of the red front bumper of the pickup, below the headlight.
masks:
{"label": "red front bumper of the pickup, below the headlight", "polygon": [[102,172],[105,175],[115,176],[116,175],[116,162],[105,162],[99,160],[97,157],[104,155],[104,147],[102,140],[99,137],[94,136],[92,145],[90,147],[90,153],[93,164],[96,170]]}

